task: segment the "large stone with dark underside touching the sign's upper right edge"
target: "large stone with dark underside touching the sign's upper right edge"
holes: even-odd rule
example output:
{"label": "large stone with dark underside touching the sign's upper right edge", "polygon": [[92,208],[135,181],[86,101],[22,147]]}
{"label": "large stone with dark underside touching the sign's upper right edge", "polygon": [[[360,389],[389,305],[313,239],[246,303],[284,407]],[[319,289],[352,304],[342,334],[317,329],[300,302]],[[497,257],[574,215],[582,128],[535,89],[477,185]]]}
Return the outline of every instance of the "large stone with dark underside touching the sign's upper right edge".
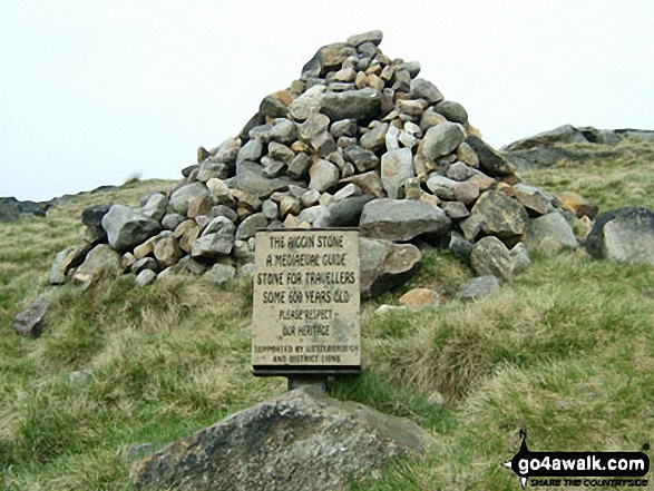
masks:
{"label": "large stone with dark underside touching the sign's upper right edge", "polygon": [[422,254],[413,244],[361,237],[359,239],[361,297],[371,298],[409,279]]}

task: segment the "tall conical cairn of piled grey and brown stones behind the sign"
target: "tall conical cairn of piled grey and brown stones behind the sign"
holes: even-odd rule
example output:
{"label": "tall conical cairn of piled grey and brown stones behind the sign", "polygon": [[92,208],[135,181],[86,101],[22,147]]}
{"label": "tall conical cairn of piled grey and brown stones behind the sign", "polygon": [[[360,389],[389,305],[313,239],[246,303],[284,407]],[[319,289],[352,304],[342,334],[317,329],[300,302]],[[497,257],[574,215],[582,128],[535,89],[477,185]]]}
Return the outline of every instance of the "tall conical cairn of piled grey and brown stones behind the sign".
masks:
{"label": "tall conical cairn of piled grey and brown stones behind the sign", "polygon": [[560,202],[520,181],[463,107],[381,40],[371,31],[320,48],[168,193],[85,210],[86,245],[59,253],[51,282],[127,272],[139,284],[222,284],[252,274],[258,228],[359,227],[363,296],[414,272],[424,245],[500,282],[544,240],[577,247]]}

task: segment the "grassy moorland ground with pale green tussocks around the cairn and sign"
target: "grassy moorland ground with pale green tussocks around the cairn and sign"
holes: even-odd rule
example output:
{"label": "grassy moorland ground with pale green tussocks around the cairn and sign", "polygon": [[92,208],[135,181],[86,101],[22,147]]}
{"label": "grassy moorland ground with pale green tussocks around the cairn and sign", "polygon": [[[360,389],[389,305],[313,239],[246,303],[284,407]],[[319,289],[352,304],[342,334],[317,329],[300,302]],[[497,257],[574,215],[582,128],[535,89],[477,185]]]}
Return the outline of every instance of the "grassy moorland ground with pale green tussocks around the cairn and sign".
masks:
{"label": "grassy moorland ground with pale green tussocks around the cairn and sign", "polygon": [[[654,207],[653,171],[650,151],[525,177],[607,209]],[[55,254],[80,242],[85,207],[137,204],[166,186],[134,184],[0,224],[0,489],[129,490],[131,445],[164,445],[285,390],[285,380],[250,374],[247,282],[137,288],[123,277],[48,289]],[[469,276],[430,253],[409,284],[363,305],[364,373],[332,381],[332,394],[411,418],[438,443],[424,461],[398,461],[353,489],[516,490],[500,462],[518,450],[520,428],[536,451],[654,443],[652,266],[535,257],[499,294],[461,304],[455,293]],[[448,301],[374,314],[416,286]],[[16,335],[13,316],[43,292],[55,305],[43,336]],[[91,375],[71,376],[82,370]]]}

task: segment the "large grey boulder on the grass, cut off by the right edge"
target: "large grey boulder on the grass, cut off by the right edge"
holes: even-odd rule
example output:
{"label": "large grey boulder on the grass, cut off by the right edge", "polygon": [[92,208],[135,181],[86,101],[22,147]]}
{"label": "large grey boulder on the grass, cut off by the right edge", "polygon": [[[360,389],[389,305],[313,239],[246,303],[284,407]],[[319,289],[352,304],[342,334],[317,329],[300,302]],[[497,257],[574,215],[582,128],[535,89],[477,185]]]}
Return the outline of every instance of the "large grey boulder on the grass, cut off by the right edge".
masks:
{"label": "large grey boulder on the grass, cut off by the right edge", "polygon": [[654,264],[654,213],[629,206],[598,215],[586,249],[598,259]]}

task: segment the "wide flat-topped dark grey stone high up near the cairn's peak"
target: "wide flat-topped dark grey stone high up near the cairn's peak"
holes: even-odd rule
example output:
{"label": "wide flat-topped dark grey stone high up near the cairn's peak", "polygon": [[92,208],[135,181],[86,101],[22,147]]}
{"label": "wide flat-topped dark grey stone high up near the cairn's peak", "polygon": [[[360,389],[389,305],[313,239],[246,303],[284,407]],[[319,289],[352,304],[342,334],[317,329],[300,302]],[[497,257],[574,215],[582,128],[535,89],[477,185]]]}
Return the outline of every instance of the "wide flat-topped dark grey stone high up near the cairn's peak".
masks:
{"label": "wide flat-topped dark grey stone high up near the cairn's peak", "polygon": [[381,111],[381,94],[370,87],[346,92],[325,92],[320,102],[320,111],[332,121],[371,119]]}

